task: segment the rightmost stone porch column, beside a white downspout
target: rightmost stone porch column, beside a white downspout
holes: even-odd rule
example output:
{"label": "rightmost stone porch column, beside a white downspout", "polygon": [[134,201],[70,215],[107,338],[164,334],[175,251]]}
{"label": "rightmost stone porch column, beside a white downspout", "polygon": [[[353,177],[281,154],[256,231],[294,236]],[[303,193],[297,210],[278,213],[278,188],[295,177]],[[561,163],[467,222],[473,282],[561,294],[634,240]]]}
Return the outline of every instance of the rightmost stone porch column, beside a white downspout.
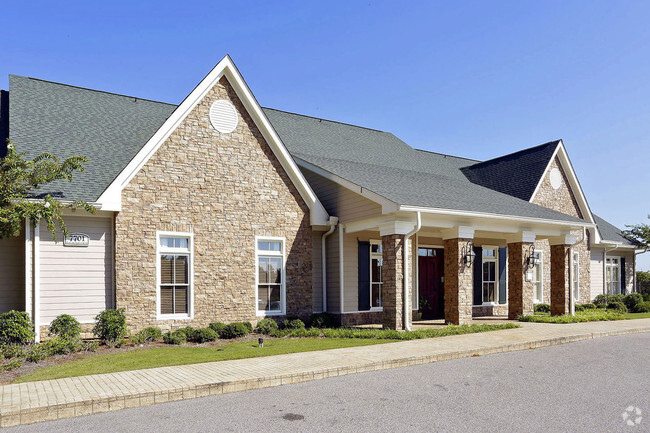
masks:
{"label": "rightmost stone porch column, beside a white downspout", "polygon": [[551,244],[551,315],[560,316],[571,311],[571,245],[575,236],[549,239]]}

